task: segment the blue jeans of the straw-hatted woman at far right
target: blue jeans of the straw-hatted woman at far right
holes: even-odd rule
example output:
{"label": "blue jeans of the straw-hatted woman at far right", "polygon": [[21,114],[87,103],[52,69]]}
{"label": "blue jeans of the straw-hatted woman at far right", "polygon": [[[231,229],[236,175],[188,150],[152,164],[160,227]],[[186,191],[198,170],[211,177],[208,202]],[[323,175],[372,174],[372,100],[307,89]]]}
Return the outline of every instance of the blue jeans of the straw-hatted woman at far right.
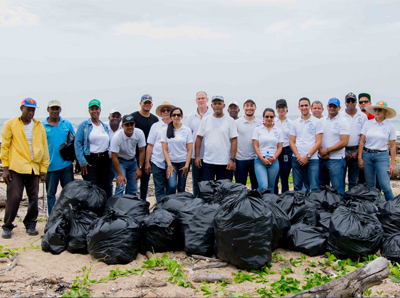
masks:
{"label": "blue jeans of the straw-hatted woman at far right", "polygon": [[388,172],[390,166],[389,153],[384,152],[363,152],[364,174],[365,180],[369,187],[376,186],[375,177],[378,176],[379,184],[385,194],[386,201],[393,199],[392,188],[390,187],[390,174]]}

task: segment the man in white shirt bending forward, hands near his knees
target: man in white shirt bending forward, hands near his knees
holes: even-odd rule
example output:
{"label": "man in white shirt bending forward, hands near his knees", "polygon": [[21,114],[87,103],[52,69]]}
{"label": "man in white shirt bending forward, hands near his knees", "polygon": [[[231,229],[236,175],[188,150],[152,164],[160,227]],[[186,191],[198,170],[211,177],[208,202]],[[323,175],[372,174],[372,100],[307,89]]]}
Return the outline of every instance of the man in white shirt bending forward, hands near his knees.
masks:
{"label": "man in white shirt bending forward, hands near his knees", "polygon": [[[139,166],[136,162],[136,145],[139,148]],[[111,142],[112,162],[117,177],[115,195],[136,195],[137,180],[142,176],[146,140],[141,129],[135,128],[132,115],[122,118],[122,130],[117,132]],[[126,189],[125,189],[126,185]]]}

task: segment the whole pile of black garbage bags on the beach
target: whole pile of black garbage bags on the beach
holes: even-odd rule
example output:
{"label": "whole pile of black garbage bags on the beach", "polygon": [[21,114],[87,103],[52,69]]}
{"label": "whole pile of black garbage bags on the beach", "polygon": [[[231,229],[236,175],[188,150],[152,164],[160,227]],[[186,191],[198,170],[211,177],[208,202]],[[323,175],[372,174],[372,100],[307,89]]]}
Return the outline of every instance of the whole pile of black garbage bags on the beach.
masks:
{"label": "whole pile of black garbage bags on the beach", "polygon": [[339,258],[381,248],[400,260],[400,197],[386,202],[362,184],[344,195],[330,186],[275,195],[229,180],[203,181],[198,197],[168,195],[150,213],[136,196],[107,200],[97,186],[74,181],[61,192],[45,232],[44,251],[89,253],[107,264],[126,264],[146,251],[184,250],[251,270],[271,262],[278,247]]}

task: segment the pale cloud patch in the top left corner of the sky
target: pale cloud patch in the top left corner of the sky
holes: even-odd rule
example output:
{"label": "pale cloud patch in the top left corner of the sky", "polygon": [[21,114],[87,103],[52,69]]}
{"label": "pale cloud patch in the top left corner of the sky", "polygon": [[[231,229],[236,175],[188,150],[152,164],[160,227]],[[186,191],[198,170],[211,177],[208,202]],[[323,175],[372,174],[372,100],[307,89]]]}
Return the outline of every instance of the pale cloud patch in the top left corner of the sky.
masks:
{"label": "pale cloud patch in the top left corner of the sky", "polygon": [[0,27],[37,25],[39,17],[24,7],[11,7],[9,1],[0,0]]}

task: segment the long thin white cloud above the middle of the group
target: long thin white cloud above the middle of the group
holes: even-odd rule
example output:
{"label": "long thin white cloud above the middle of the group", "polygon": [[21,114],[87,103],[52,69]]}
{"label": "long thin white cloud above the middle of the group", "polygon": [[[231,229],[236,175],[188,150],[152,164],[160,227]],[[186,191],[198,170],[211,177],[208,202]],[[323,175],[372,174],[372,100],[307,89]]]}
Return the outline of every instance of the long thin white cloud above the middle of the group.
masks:
{"label": "long thin white cloud above the middle of the group", "polygon": [[156,39],[163,38],[182,38],[189,37],[193,39],[220,39],[230,38],[230,34],[215,32],[210,28],[196,26],[179,26],[179,27],[153,27],[149,22],[145,23],[126,23],[115,29],[116,35],[137,35],[147,36]]}

